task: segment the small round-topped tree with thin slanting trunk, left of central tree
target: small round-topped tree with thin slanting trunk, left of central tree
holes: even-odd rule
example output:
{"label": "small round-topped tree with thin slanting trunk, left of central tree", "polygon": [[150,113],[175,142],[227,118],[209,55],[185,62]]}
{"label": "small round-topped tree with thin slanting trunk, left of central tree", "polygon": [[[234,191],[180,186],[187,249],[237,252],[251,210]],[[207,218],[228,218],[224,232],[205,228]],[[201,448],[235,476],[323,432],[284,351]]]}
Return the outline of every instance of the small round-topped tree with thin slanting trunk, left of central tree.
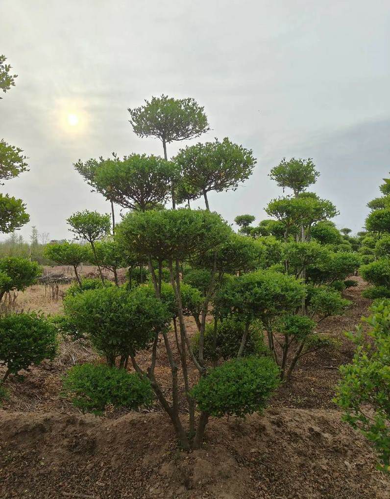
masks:
{"label": "small round-topped tree with thin slanting trunk, left of central tree", "polygon": [[[76,239],[85,239],[91,245],[91,249],[95,259],[98,259],[95,242],[102,239],[110,233],[110,215],[101,215],[98,212],[90,212],[84,210],[83,212],[76,212],[67,220],[70,225],[70,231],[75,234]],[[104,281],[102,269],[98,264],[99,275]]]}

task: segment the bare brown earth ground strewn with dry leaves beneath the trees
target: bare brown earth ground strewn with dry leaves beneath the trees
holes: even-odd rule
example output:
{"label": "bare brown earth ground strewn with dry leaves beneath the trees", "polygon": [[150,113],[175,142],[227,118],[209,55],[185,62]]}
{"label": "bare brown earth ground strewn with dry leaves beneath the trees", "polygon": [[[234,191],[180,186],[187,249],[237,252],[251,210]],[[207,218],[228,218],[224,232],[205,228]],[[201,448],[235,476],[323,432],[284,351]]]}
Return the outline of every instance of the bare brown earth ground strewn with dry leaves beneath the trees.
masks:
{"label": "bare brown earth ground strewn with dry leaves beneath the trees", "polygon": [[[0,411],[0,498],[390,498],[389,479],[375,470],[370,444],[341,422],[332,402],[337,367],[353,355],[343,332],[370,303],[361,297],[365,283],[355,279],[358,287],[345,292],[351,308],[318,329],[340,346],[302,359],[263,416],[213,418],[204,448],[191,454],[177,448],[158,404],[144,413],[81,415],[60,396],[61,376],[75,363],[100,359],[88,345],[63,342],[59,356],[32,367],[24,381],[8,378],[9,398]],[[66,287],[57,301],[45,286],[31,286],[19,293],[18,306],[61,312]],[[192,319],[187,326],[195,333]],[[149,353],[137,360],[147,366]],[[162,347],[155,374],[168,394]],[[195,371],[191,378],[196,382]]]}

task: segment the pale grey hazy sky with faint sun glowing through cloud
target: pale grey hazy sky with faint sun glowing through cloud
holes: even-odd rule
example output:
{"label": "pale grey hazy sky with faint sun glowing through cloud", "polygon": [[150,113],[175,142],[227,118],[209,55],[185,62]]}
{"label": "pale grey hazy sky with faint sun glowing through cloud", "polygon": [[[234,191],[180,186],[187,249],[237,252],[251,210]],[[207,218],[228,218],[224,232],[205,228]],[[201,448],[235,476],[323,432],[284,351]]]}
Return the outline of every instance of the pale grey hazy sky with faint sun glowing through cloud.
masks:
{"label": "pale grey hazy sky with faint sun glowing through cloud", "polygon": [[210,194],[229,222],[265,218],[281,194],[270,168],[312,157],[313,190],[339,208],[339,227],[359,231],[390,170],[389,0],[0,0],[0,53],[19,75],[1,94],[0,137],[30,165],[1,189],[26,202],[25,237],[36,225],[70,238],[73,212],[109,212],[72,163],[162,154],[133,134],[127,111],[161,93],[205,106],[212,130],[198,140],[254,150],[251,179]]}

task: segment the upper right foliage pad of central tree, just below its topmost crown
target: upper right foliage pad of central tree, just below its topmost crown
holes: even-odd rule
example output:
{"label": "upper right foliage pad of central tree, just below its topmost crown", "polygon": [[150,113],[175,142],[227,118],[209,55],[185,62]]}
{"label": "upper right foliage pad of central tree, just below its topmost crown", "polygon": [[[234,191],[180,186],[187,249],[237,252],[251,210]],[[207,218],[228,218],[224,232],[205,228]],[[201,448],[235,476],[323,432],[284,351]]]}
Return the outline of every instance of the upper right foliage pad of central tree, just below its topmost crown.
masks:
{"label": "upper right foliage pad of central tree, just below its topmost crown", "polygon": [[256,165],[250,149],[234,144],[227,137],[222,142],[198,143],[181,149],[174,158],[186,190],[203,194],[209,210],[207,193],[236,190],[247,180]]}

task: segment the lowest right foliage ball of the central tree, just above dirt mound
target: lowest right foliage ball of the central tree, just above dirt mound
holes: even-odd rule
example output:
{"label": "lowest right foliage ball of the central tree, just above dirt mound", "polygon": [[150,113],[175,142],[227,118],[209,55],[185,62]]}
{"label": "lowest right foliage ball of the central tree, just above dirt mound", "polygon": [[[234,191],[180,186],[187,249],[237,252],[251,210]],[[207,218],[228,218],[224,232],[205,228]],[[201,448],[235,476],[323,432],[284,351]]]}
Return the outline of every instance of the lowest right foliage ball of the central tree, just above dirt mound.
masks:
{"label": "lowest right foliage ball of the central tree, just above dirt mound", "polygon": [[211,369],[191,390],[200,411],[221,418],[261,411],[280,384],[270,357],[241,357]]}

